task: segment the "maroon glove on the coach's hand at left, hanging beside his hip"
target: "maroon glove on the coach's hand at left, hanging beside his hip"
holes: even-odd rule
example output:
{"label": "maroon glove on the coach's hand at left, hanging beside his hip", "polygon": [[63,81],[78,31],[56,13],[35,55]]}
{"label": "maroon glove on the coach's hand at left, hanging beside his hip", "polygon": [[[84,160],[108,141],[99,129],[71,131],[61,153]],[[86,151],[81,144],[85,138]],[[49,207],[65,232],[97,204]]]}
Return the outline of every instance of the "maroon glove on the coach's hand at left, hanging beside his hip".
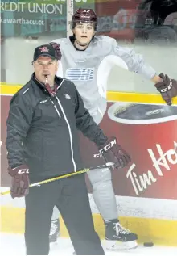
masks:
{"label": "maroon glove on the coach's hand at left, hanging beside his hip", "polygon": [[29,169],[26,165],[22,165],[16,168],[8,168],[10,174],[10,194],[12,198],[22,197],[29,193]]}

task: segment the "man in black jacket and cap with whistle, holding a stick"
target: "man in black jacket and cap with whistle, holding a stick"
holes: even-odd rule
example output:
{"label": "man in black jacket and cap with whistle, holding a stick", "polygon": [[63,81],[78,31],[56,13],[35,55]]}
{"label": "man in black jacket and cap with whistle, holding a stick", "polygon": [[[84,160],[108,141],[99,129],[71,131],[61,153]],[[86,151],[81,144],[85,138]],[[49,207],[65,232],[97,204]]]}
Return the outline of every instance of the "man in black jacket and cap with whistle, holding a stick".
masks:
{"label": "man in black jacket and cap with whistle, holding a stick", "polygon": [[115,138],[105,136],[93,121],[76,86],[56,77],[60,58],[49,44],[35,48],[34,73],[10,101],[6,121],[10,193],[12,198],[25,196],[27,255],[49,254],[55,205],[76,254],[104,255],[93,226],[84,174],[29,189],[30,183],[83,169],[79,131],[97,145],[106,162],[114,162],[117,168],[130,162],[117,141],[111,143]]}

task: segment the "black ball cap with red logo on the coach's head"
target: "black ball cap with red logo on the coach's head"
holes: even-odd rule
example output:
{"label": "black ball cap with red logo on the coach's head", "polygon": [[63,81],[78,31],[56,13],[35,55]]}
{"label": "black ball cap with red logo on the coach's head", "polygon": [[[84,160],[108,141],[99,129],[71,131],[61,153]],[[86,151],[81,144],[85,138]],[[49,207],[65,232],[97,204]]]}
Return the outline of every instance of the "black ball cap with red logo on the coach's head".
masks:
{"label": "black ball cap with red logo on the coach's head", "polygon": [[35,48],[33,61],[36,61],[41,56],[47,56],[53,60],[57,60],[56,50],[50,44],[43,44]]}

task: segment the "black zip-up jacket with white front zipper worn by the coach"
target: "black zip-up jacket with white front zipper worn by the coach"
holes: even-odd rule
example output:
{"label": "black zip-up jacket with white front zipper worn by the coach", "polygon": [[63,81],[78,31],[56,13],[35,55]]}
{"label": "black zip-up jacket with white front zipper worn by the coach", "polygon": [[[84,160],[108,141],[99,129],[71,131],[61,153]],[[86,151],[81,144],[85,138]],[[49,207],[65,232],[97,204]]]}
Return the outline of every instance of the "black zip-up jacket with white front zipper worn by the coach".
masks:
{"label": "black zip-up jacket with white front zipper worn by the coach", "polygon": [[78,130],[97,146],[107,137],[84,108],[76,86],[56,77],[56,97],[34,74],[10,101],[6,148],[10,167],[27,164],[31,182],[83,168]]}

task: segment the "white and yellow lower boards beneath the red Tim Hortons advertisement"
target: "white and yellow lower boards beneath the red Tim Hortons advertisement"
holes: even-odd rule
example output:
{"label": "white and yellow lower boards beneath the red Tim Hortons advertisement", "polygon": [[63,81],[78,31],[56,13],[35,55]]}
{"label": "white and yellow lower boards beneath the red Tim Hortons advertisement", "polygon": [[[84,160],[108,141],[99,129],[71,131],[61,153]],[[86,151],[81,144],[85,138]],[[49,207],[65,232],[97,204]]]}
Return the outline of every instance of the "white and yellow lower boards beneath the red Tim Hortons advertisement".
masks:
{"label": "white and yellow lower boards beneath the red Tim Hortons advertisement", "polygon": [[[6,191],[7,188],[3,188]],[[98,214],[92,195],[89,194],[93,211],[93,220],[97,233],[103,239],[105,227]],[[154,242],[155,245],[177,246],[177,201],[163,199],[144,199],[134,197],[117,197],[117,207],[121,225],[138,233],[138,242]],[[3,197],[1,203],[1,232],[24,232],[24,200]],[[68,237],[64,221],[60,217],[62,237]]]}

